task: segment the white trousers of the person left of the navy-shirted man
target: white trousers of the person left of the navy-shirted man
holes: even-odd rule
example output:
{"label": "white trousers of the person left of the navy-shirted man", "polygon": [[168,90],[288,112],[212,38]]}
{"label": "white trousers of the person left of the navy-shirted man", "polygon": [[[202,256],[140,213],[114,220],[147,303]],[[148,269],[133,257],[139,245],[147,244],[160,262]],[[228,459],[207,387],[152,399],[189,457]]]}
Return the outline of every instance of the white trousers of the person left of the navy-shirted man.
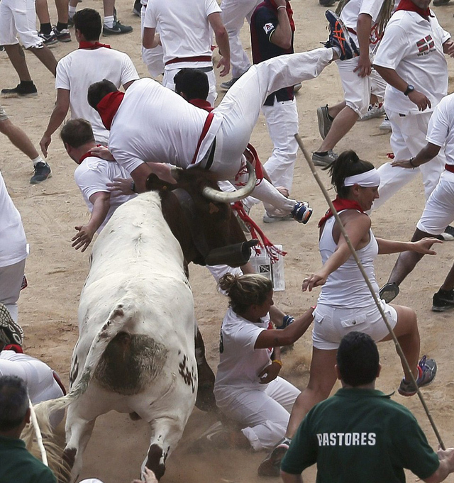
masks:
{"label": "white trousers of the person left of the navy-shirted man", "polygon": [[244,19],[250,23],[255,6],[260,0],[222,0],[222,21],[228,33],[230,43],[230,61],[232,65],[232,77],[240,77],[250,67],[248,55],[240,41],[240,30]]}

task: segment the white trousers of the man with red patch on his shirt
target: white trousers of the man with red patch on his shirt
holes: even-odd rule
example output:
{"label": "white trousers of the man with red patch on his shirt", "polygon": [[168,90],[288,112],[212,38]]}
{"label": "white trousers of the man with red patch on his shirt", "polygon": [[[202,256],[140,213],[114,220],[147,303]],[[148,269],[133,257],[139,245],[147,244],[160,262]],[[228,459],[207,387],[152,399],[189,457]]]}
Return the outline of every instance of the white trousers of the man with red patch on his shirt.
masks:
{"label": "white trousers of the man with red patch on his shirt", "polygon": [[[394,152],[394,159],[408,160],[411,156],[416,156],[426,145],[427,126],[432,113],[422,112],[401,116],[397,112],[388,110],[387,115],[392,127],[390,142],[392,152]],[[380,173],[380,198],[374,201],[372,209],[377,209],[382,206],[400,188],[414,179],[419,172],[423,176],[424,194],[426,199],[428,199],[440,179],[445,162],[445,152],[440,150],[433,160],[426,162],[426,164],[414,170],[409,170],[404,167],[392,167],[389,162],[380,166],[378,168],[378,172]]]}

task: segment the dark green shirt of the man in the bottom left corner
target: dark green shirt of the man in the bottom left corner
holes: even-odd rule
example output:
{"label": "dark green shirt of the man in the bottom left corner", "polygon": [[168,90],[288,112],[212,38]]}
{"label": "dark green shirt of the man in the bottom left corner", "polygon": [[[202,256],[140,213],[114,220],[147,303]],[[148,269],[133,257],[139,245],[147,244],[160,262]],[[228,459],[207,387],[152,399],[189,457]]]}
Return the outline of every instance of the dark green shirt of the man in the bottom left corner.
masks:
{"label": "dark green shirt of the man in the bottom left corner", "polygon": [[21,439],[0,436],[1,483],[56,483],[54,474],[26,450]]}

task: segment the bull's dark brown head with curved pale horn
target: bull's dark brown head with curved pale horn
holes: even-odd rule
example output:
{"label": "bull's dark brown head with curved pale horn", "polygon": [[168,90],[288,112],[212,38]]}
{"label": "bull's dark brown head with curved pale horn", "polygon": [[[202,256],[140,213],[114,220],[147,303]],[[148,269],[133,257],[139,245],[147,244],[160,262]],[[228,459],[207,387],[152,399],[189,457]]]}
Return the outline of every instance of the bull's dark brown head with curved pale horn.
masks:
{"label": "bull's dark brown head with curved pale horn", "polygon": [[253,191],[255,172],[252,166],[248,171],[248,184],[233,192],[220,191],[213,174],[199,168],[172,168],[177,184],[162,182],[154,174],[148,177],[147,189],[160,191],[162,213],[187,263],[238,267],[249,260],[250,246],[257,242],[246,240],[230,206]]}

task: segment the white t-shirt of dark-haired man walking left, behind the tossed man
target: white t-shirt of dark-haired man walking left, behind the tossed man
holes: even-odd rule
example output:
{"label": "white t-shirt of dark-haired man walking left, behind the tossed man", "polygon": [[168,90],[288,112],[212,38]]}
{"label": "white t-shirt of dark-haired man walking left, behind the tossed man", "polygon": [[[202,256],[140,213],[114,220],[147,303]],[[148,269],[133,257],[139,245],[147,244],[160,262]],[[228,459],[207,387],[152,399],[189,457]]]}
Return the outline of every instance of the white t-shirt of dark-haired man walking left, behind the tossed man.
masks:
{"label": "white t-shirt of dark-haired man walking left, behind the tossed man", "polygon": [[55,89],[70,91],[71,118],[90,121],[96,143],[107,145],[109,131],[104,128],[99,114],[88,104],[88,88],[102,79],[114,82],[119,88],[138,78],[132,60],[123,52],[105,47],[77,49],[58,62]]}

